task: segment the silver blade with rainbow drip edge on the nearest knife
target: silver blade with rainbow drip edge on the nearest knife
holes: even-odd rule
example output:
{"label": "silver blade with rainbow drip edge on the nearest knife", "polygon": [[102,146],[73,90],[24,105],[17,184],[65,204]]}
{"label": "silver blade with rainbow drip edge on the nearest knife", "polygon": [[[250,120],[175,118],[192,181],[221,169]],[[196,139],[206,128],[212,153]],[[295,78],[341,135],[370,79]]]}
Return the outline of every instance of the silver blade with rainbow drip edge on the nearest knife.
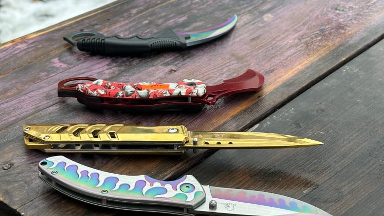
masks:
{"label": "silver blade with rainbow drip edge on the nearest knife", "polygon": [[[204,185],[206,201],[193,214],[243,216],[331,216],[303,201],[274,193]],[[210,202],[216,201],[216,209]]]}

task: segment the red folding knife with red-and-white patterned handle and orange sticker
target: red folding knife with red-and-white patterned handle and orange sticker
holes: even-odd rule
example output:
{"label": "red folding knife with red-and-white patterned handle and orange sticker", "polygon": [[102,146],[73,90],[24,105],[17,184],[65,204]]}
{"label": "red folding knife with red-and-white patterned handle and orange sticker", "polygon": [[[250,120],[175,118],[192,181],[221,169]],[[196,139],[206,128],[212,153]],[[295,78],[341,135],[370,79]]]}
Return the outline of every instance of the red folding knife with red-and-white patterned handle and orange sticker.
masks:
{"label": "red folding knife with red-and-white patterned handle and orange sticker", "polygon": [[[88,82],[73,83],[79,80]],[[206,86],[196,79],[184,79],[176,83],[119,83],[75,77],[59,82],[58,96],[76,97],[80,103],[98,109],[130,112],[199,111],[205,104],[214,105],[220,97],[257,91],[263,83],[263,75],[251,69],[215,86]]]}

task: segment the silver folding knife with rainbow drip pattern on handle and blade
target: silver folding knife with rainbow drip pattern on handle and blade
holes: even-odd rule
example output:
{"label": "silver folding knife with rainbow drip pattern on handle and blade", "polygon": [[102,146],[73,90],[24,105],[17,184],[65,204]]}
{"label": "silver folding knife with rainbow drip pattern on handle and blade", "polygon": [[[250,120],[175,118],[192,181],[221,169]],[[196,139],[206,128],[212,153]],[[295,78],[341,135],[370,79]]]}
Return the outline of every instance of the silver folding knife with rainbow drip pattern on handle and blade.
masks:
{"label": "silver folding knife with rainbow drip pattern on handle and blade", "polygon": [[38,169],[42,181],[65,195],[119,210],[180,216],[331,216],[313,205],[279,194],[200,185],[192,175],[175,181],[119,175],[64,156],[43,159]]}

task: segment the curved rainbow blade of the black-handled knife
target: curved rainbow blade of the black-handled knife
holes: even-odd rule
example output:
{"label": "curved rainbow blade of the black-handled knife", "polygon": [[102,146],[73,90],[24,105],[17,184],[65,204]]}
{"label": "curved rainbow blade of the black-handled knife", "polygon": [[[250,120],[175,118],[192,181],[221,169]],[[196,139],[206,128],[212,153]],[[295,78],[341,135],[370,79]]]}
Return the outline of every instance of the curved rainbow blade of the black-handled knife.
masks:
{"label": "curved rainbow blade of the black-handled knife", "polygon": [[237,16],[234,15],[225,23],[212,28],[208,28],[200,31],[177,32],[177,33],[180,35],[189,35],[189,37],[186,39],[187,46],[193,46],[193,45],[204,43],[204,42],[213,40],[217,37],[220,37],[221,35],[233,29],[236,22],[237,22]]}

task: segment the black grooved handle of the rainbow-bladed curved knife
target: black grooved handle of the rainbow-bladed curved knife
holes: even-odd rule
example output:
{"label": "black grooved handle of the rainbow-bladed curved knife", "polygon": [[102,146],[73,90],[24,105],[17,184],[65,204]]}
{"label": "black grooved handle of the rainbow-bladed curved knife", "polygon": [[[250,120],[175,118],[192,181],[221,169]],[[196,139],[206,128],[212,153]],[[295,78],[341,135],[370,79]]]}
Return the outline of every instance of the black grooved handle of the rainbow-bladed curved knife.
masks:
{"label": "black grooved handle of the rainbow-bladed curved knife", "polygon": [[181,50],[187,47],[185,37],[167,29],[153,37],[102,36],[83,38],[77,41],[80,51],[90,52],[97,55],[130,55],[150,52],[164,52]]}

